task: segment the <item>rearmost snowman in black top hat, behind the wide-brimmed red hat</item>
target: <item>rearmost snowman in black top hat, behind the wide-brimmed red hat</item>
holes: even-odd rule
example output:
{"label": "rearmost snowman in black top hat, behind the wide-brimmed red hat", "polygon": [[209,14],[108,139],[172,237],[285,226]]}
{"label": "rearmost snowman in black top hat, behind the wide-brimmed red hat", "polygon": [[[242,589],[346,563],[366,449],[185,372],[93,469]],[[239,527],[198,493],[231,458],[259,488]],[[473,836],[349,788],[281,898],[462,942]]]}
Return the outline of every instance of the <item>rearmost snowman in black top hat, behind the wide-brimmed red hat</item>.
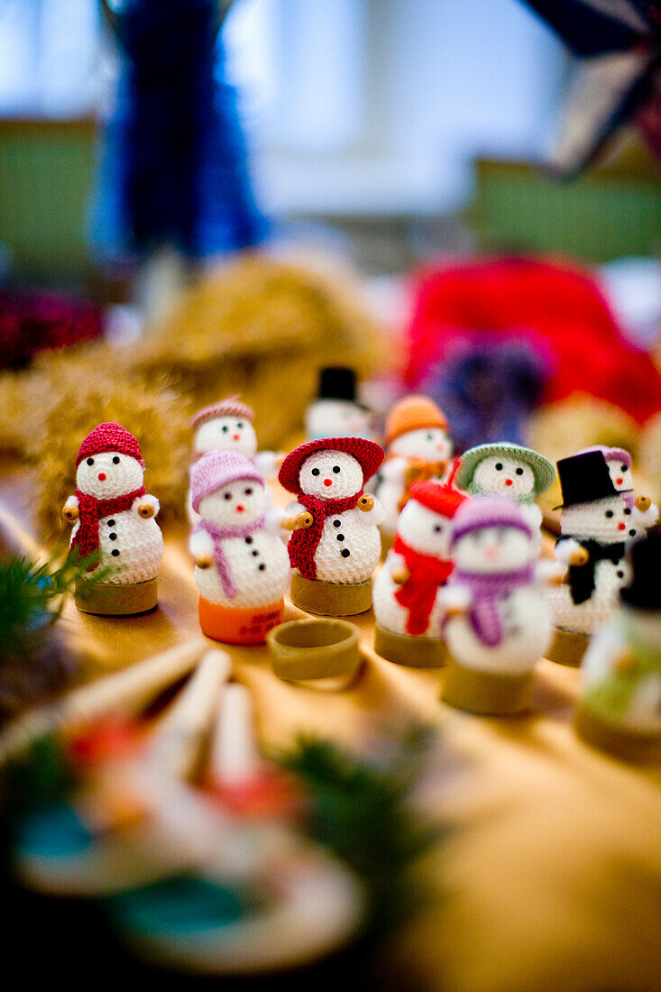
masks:
{"label": "rearmost snowman in black top hat, behind the wide-brimmed red hat", "polygon": [[358,402],[355,372],[342,366],[322,369],[319,394],[306,410],[306,434],[320,437],[368,437],[372,415]]}

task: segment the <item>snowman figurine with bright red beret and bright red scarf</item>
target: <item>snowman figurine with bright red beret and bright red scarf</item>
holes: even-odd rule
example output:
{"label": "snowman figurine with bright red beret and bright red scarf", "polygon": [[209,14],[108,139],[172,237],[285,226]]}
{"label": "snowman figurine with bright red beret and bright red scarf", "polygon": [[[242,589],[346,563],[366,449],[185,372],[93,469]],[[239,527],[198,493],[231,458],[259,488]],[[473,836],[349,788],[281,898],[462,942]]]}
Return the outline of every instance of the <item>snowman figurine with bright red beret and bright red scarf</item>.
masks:
{"label": "snowman figurine with bright red beret and bright red scarf", "polygon": [[452,484],[415,482],[374,582],[374,650],[389,662],[443,665],[440,590],[453,570],[450,523],[468,499]]}

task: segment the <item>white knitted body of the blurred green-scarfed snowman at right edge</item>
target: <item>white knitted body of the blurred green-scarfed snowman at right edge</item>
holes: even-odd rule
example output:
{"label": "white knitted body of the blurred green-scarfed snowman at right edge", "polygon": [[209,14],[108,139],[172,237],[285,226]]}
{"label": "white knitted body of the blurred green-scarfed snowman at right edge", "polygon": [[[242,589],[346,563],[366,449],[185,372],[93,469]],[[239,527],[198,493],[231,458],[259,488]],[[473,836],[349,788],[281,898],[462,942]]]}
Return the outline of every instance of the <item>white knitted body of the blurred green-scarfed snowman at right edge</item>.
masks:
{"label": "white knitted body of the blurred green-scarfed snowman at right edge", "polygon": [[[624,730],[661,735],[661,614],[659,611],[626,609],[604,626],[592,641],[582,665],[585,705],[606,722]],[[633,635],[633,638],[631,637]],[[634,679],[627,691],[623,709],[612,708],[599,690],[616,688],[617,666],[623,652],[633,651],[636,643],[655,654],[658,665]],[[594,693],[594,695],[593,695]]]}

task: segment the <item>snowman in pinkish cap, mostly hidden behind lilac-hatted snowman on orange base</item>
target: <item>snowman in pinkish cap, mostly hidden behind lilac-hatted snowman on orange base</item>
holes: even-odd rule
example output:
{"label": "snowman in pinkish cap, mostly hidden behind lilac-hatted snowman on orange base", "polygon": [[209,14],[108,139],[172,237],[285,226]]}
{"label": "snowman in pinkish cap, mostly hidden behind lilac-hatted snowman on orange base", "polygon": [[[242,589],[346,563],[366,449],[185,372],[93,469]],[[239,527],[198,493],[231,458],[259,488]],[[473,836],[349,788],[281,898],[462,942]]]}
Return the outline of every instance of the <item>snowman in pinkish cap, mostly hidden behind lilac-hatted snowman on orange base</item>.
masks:
{"label": "snowman in pinkish cap, mostly hidden behind lilac-hatted snowman on orange base", "polygon": [[[238,396],[229,396],[219,403],[198,410],[193,418],[193,450],[196,458],[207,451],[234,451],[250,458],[265,479],[274,479],[283,459],[282,453],[258,451],[257,434],[253,427],[255,412]],[[193,509],[191,489],[187,500],[187,513],[191,524],[198,523]]]}

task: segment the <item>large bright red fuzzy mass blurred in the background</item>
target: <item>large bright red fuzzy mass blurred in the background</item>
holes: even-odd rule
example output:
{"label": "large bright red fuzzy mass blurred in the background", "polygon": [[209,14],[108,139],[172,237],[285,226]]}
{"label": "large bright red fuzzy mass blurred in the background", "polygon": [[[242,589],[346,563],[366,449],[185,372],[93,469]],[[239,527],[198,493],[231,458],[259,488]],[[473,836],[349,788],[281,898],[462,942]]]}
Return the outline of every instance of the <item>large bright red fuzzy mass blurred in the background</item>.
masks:
{"label": "large bright red fuzzy mass blurred in the background", "polygon": [[661,374],[622,335],[595,281],[558,262],[475,260],[423,273],[407,333],[406,385],[466,339],[518,337],[551,365],[545,403],[589,393],[643,423],[661,409]]}

